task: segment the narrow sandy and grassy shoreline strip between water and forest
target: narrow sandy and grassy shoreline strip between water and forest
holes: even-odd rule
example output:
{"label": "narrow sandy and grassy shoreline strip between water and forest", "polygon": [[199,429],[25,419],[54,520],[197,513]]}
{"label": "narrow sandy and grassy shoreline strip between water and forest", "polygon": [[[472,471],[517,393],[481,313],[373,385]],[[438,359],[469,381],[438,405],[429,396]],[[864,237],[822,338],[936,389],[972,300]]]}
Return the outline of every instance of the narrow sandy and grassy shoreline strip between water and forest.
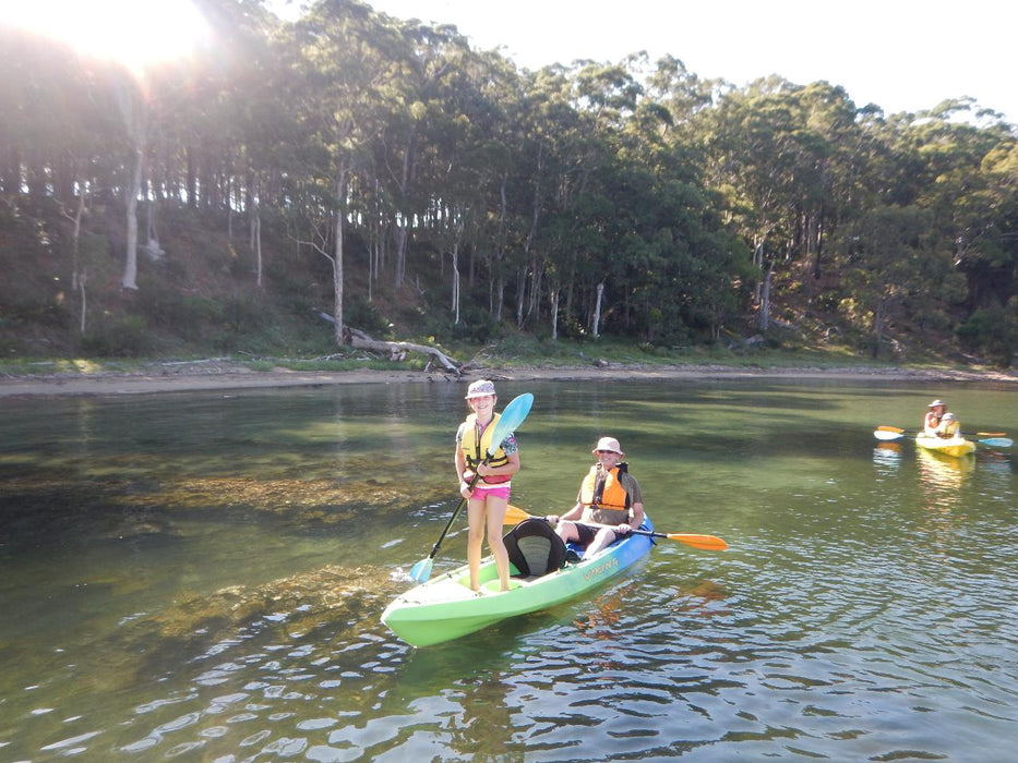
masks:
{"label": "narrow sandy and grassy shoreline strip between water and forest", "polygon": [[118,396],[157,392],[253,389],[270,387],[321,387],[339,384],[454,384],[477,378],[495,380],[588,379],[739,379],[816,378],[874,382],[992,382],[1018,384],[1014,372],[970,372],[915,368],[740,368],[721,365],[640,367],[609,365],[573,368],[474,368],[460,379],[443,372],[345,371],[300,372],[276,368],[252,371],[239,364],[169,364],[151,373],[47,374],[0,378],[0,398],[59,396]]}

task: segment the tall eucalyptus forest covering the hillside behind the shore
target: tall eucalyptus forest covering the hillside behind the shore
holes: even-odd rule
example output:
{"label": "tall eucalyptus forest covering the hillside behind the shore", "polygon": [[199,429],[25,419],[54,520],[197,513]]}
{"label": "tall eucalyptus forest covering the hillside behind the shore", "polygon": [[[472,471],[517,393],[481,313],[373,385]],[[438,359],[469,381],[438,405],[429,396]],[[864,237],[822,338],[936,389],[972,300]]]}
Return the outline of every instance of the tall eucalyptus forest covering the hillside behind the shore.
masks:
{"label": "tall eucalyptus forest covering the hillside behind the shore", "polygon": [[355,0],[195,5],[203,46],[143,71],[0,23],[5,354],[776,327],[1018,351],[1018,129],[971,99],[888,116],[640,52],[529,71]]}

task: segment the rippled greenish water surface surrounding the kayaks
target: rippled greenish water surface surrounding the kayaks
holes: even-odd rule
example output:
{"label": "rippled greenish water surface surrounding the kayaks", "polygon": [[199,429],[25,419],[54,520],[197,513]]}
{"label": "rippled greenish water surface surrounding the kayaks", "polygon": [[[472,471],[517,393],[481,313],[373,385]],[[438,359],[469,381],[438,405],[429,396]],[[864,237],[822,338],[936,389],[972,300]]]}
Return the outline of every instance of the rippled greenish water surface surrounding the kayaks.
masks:
{"label": "rippled greenish water surface surrounding the kayaks", "polygon": [[659,530],[731,549],[416,650],[379,615],[455,508],[460,385],[0,400],[0,760],[1013,755],[1016,449],[872,429],[943,397],[1015,437],[1018,390],[524,391],[514,504],[566,509],[611,434]]}

